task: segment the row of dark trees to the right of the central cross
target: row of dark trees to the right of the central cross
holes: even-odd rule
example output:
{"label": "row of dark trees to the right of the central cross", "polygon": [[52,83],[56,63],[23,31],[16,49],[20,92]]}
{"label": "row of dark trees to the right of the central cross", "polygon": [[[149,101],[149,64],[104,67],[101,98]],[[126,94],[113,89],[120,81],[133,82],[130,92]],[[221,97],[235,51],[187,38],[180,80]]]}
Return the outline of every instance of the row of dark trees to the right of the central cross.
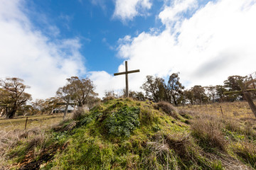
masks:
{"label": "row of dark trees to the right of the central cross", "polygon": [[[150,100],[154,102],[167,101],[175,106],[181,104],[205,104],[225,101],[244,100],[243,94],[226,94],[228,91],[241,91],[238,81],[247,82],[251,77],[230,76],[224,85],[200,86],[196,85],[191,89],[185,89],[181,84],[178,73],[171,74],[169,81],[160,77],[146,76],[142,84],[143,91],[129,91],[129,96],[139,101]],[[254,84],[247,84],[246,89],[255,89]],[[114,91],[105,93],[105,98],[117,97]],[[252,98],[256,95],[252,94]],[[104,99],[104,98],[103,98]]]}

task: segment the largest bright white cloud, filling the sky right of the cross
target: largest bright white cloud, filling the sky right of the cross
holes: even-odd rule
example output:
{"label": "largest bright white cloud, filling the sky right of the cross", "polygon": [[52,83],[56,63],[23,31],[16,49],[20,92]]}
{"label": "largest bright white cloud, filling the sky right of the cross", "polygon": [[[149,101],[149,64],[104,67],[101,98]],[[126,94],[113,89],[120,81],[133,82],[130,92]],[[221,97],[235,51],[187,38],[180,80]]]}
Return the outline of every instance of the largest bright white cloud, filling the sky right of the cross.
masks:
{"label": "largest bright white cloud, filling the sky right of the cross", "polygon": [[[164,11],[166,8],[169,7]],[[172,28],[175,30],[170,30],[169,22],[186,9],[170,8],[175,10],[161,12],[159,16],[167,25],[165,30],[143,32],[137,37],[127,35],[119,40],[119,56],[129,61],[129,69],[141,69],[140,73],[131,74],[130,89],[140,90],[146,75],[168,77],[172,72],[180,72],[186,86],[207,86],[223,84],[231,75],[255,72],[255,0],[209,2],[193,16],[179,19],[179,25]],[[123,64],[119,67],[121,70],[124,70]],[[111,83],[101,88],[108,89],[108,86]]]}

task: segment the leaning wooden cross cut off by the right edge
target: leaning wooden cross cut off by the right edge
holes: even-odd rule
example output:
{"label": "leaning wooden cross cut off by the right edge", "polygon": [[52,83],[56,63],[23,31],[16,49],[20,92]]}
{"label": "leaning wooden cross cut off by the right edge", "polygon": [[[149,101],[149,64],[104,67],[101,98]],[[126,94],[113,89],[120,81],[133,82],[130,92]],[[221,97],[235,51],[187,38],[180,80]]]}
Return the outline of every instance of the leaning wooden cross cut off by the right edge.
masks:
{"label": "leaning wooden cross cut off by the right edge", "polygon": [[[251,84],[254,81],[255,80],[247,81],[247,82],[245,82],[245,84]],[[255,92],[256,89],[245,89],[245,84],[243,84],[242,81],[239,80],[238,85],[240,86],[240,89],[241,89],[240,91],[228,91],[228,92],[225,92],[224,94],[243,94],[245,96],[245,99],[248,102],[251,110],[252,110],[252,113],[256,117],[256,106],[252,101],[252,97],[250,96],[250,92]]]}

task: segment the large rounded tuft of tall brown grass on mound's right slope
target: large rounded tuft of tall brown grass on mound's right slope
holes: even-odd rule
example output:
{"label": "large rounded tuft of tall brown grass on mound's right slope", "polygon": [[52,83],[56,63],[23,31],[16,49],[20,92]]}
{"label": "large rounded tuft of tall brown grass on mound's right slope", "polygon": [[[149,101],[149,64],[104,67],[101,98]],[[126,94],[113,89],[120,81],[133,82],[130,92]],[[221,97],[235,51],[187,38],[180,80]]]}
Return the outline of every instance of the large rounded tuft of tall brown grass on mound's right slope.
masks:
{"label": "large rounded tuft of tall brown grass on mound's right slope", "polygon": [[213,116],[199,117],[193,120],[191,124],[193,137],[196,137],[200,145],[205,149],[215,147],[225,151],[227,140],[225,140],[222,129],[221,120]]}

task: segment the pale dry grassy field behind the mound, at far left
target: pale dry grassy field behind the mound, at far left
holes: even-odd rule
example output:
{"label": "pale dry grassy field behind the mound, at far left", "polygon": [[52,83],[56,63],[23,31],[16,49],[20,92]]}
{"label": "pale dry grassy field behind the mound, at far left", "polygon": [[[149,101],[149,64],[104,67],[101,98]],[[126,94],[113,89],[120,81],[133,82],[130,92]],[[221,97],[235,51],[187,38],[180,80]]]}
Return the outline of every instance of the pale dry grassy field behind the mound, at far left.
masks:
{"label": "pale dry grassy field behind the mound, at far left", "polygon": [[28,122],[26,129],[46,128],[48,125],[59,123],[63,120],[63,114],[55,115],[30,115],[13,119],[0,119],[0,130],[8,132],[9,130],[23,130],[25,128],[26,118]]}

